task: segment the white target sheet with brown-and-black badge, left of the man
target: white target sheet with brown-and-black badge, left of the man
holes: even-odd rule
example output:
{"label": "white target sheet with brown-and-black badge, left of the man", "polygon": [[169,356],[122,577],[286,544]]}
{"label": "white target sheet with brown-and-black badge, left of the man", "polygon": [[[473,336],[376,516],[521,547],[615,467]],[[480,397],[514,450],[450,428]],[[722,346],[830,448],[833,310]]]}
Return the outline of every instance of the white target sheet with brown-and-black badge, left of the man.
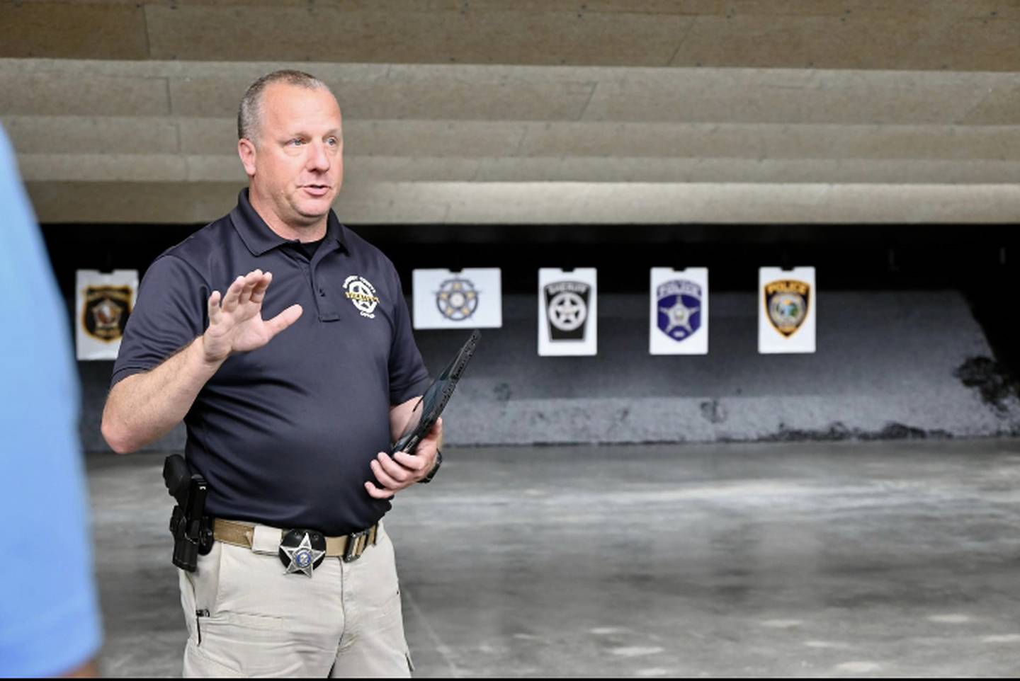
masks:
{"label": "white target sheet with brown-and-black badge, left of the man", "polygon": [[138,270],[75,273],[75,355],[80,360],[115,360],[138,293]]}

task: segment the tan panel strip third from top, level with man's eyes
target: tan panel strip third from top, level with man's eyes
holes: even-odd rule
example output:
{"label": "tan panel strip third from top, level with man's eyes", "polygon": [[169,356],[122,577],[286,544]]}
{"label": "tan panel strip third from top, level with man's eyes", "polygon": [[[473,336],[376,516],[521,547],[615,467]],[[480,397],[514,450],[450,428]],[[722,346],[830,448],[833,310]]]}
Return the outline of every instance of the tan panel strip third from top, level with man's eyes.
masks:
{"label": "tan panel strip third from top, level with man's eyes", "polygon": [[[0,116],[19,154],[185,154],[237,162],[233,118]],[[346,120],[345,154],[428,158],[1020,160],[1020,124],[838,125]]]}

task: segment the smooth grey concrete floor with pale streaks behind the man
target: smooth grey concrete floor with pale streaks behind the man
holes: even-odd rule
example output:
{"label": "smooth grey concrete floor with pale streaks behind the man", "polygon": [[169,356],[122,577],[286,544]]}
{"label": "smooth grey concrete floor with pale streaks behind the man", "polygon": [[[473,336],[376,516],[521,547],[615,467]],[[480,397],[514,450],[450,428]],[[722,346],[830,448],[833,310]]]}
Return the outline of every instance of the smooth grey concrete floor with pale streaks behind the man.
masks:
{"label": "smooth grey concrete floor with pale streaks behind the man", "polygon": [[[416,676],[1017,676],[1020,440],[450,449]],[[109,676],[176,676],[162,457],[92,455]]]}

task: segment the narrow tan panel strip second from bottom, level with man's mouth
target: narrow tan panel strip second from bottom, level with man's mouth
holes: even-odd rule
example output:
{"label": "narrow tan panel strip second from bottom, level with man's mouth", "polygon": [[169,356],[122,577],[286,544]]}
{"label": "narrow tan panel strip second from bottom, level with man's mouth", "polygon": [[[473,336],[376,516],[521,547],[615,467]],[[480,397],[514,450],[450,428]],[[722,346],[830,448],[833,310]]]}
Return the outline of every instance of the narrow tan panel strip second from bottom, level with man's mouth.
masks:
{"label": "narrow tan panel strip second from bottom, level with man's mouth", "polygon": [[[22,154],[27,181],[247,182],[231,156]],[[1020,184],[1020,161],[747,158],[456,158],[347,156],[347,182]],[[129,188],[125,188],[130,191]]]}

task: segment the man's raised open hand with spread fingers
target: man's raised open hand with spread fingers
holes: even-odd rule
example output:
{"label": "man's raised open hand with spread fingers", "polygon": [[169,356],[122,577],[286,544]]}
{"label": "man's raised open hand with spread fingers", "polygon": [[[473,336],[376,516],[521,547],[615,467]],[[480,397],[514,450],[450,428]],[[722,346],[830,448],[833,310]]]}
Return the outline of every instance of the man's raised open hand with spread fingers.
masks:
{"label": "man's raised open hand with spread fingers", "polygon": [[269,320],[262,319],[262,301],[272,281],[271,272],[260,269],[239,276],[226,290],[209,296],[209,327],[202,335],[206,360],[221,362],[231,353],[261,348],[301,316],[301,306],[292,305]]}

